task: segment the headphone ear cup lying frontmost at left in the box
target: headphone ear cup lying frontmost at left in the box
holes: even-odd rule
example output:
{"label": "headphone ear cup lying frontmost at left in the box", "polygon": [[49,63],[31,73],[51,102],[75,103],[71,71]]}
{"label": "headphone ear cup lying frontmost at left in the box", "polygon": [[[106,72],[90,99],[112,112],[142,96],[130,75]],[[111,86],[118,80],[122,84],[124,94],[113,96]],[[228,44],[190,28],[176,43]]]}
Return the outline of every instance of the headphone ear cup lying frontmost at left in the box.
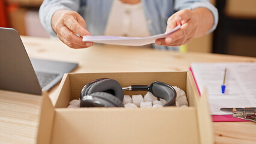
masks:
{"label": "headphone ear cup lying frontmost at left in the box", "polygon": [[81,107],[123,107],[123,103],[114,95],[106,92],[94,92],[82,98]]}

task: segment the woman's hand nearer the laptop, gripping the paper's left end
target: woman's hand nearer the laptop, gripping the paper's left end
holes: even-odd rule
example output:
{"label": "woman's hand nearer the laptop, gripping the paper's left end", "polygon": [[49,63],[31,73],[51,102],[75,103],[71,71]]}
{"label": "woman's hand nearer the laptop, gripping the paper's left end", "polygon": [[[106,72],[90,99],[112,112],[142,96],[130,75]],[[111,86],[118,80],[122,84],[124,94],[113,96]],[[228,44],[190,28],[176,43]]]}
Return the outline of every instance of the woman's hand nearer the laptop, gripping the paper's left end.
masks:
{"label": "woman's hand nearer the laptop, gripping the paper's left end", "polygon": [[84,18],[75,11],[56,11],[52,16],[52,28],[58,35],[59,40],[71,48],[81,49],[93,46],[94,44],[82,41],[83,35],[91,34],[86,29]]}

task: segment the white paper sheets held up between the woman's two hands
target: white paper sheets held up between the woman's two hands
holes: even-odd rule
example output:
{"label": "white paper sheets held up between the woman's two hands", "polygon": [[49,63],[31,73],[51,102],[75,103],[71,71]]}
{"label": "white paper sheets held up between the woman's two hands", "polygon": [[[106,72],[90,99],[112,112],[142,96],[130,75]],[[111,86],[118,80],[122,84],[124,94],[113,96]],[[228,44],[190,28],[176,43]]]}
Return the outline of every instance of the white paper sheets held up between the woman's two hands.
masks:
{"label": "white paper sheets held up between the woman's two hands", "polygon": [[118,37],[118,36],[88,36],[85,35],[83,37],[83,41],[91,41],[94,43],[103,43],[103,44],[117,44],[117,45],[123,45],[123,46],[143,46],[146,44],[154,43],[159,38],[165,38],[169,34],[171,34],[174,31],[177,31],[180,28],[180,25],[176,26],[174,29],[172,29],[167,34],[159,34],[159,35],[153,35],[150,37]]}

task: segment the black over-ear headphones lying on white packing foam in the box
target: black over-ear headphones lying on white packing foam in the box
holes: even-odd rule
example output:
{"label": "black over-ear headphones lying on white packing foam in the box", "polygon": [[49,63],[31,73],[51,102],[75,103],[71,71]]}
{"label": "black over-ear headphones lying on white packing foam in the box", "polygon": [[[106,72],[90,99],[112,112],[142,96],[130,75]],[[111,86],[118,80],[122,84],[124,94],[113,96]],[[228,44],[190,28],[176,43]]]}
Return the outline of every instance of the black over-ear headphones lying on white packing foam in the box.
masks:
{"label": "black over-ear headphones lying on white packing foam in the box", "polygon": [[163,82],[153,82],[151,85],[132,85],[122,88],[117,80],[102,78],[93,80],[82,88],[80,107],[123,107],[125,90],[149,91],[157,98],[167,101],[165,106],[174,106],[176,91]]}

